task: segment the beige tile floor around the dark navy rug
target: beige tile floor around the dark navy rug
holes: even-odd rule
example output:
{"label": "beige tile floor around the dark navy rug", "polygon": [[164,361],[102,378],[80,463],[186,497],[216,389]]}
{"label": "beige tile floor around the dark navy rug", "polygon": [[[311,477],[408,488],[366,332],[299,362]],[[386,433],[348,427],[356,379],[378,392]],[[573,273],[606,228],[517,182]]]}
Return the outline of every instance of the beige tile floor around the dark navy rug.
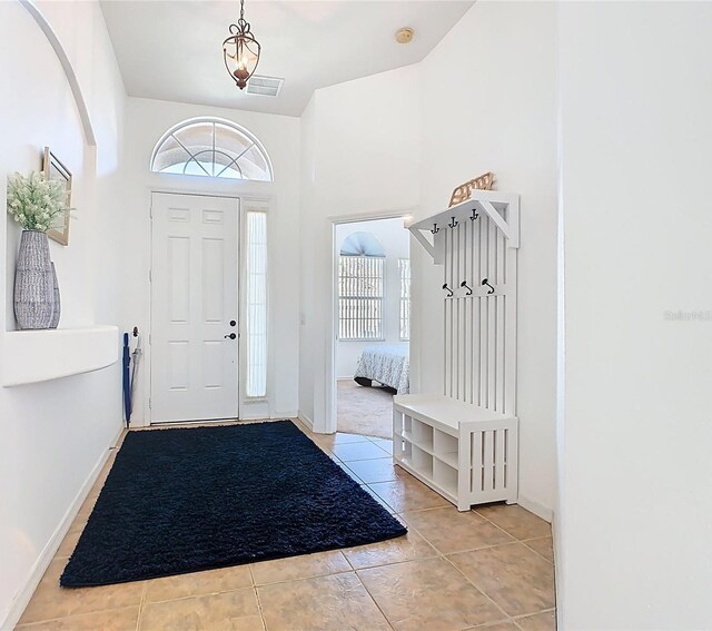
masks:
{"label": "beige tile floor around the dark navy rug", "polygon": [[[297,423],[298,425],[298,423]],[[552,631],[550,525],[520,506],[458,513],[394,467],[387,441],[313,435],[408,525],[406,536],[224,570],[63,590],[71,554],[112,461],[60,546],[18,630]]]}

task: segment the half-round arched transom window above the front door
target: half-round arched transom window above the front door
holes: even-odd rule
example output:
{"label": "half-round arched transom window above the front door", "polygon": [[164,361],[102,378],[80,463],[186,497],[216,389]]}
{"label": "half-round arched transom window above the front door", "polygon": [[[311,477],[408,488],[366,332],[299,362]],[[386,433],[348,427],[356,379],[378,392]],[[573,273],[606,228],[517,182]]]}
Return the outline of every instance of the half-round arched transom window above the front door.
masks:
{"label": "half-round arched transom window above the front door", "polygon": [[186,120],[164,134],[151,170],[230,179],[273,181],[271,162],[259,140],[228,120]]}

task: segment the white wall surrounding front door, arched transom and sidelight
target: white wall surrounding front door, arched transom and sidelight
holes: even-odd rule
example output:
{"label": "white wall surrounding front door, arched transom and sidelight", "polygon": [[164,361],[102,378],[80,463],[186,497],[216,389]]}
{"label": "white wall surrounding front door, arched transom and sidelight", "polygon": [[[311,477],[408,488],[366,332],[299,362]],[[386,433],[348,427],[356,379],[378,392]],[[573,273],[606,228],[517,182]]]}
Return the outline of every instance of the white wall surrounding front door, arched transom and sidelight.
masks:
{"label": "white wall surrounding front door, arched transom and sidelight", "polygon": [[[237,122],[253,132],[269,154],[275,183],[215,180],[204,177],[152,174],[150,157],[156,142],[174,125],[196,117],[215,116]],[[123,273],[130,278],[122,313],[127,331],[138,326],[148,333],[150,324],[150,194],[190,191],[227,195],[244,200],[267,199],[269,256],[269,366],[266,402],[240,402],[240,417],[296,416],[298,410],[298,313],[299,313],[299,119],[202,107],[150,99],[128,99],[127,191],[123,218],[130,226],[129,255]],[[246,339],[243,336],[241,343]],[[148,422],[146,392],[149,384],[150,347],[137,392],[131,423]],[[240,353],[244,355],[244,346]],[[243,371],[244,372],[244,371]],[[244,383],[245,375],[241,375]],[[240,387],[244,392],[244,387]]]}

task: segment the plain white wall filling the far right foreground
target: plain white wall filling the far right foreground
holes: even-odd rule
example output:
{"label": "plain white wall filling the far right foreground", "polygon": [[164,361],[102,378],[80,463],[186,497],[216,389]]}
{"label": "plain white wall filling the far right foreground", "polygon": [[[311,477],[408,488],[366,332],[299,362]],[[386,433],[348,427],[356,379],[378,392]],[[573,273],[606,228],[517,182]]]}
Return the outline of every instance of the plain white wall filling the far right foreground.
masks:
{"label": "plain white wall filling the far right foreground", "polygon": [[564,3],[560,32],[560,629],[710,629],[712,6]]}

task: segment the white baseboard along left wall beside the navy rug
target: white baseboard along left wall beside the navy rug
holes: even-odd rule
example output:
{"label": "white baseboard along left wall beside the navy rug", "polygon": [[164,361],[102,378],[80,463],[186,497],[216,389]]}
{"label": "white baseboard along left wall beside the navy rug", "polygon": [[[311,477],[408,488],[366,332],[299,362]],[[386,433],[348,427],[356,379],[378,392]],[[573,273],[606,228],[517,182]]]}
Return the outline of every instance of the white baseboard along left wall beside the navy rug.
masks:
{"label": "white baseboard along left wall beside the navy rug", "polygon": [[37,590],[37,585],[40,584],[44,572],[47,572],[47,568],[49,568],[52,559],[55,559],[55,554],[57,554],[57,550],[59,550],[59,546],[65,540],[65,536],[69,532],[71,524],[73,523],[77,514],[79,513],[79,510],[81,509],[81,505],[85,503],[85,500],[93,487],[93,484],[99,477],[99,474],[101,473],[101,470],[103,469],[107,460],[109,460],[111,450],[118,443],[119,437],[121,436],[121,432],[123,432],[123,426],[121,426],[119,433],[111,441],[110,446],[101,454],[101,456],[97,461],[97,464],[91,470],[91,473],[87,476],[87,480],[85,480],[85,483],[79,489],[77,495],[75,495],[72,503],[67,509],[67,512],[62,516],[57,529],[55,529],[52,536],[50,536],[49,541],[42,549],[42,552],[40,552],[37,561],[34,562],[34,565],[32,565],[32,570],[30,571],[30,575],[28,576],[24,586],[16,594],[14,599],[12,599],[7,618],[2,622],[0,622],[0,631],[11,631],[20,621],[20,618],[22,617],[24,609],[29,604],[34,590]]}

